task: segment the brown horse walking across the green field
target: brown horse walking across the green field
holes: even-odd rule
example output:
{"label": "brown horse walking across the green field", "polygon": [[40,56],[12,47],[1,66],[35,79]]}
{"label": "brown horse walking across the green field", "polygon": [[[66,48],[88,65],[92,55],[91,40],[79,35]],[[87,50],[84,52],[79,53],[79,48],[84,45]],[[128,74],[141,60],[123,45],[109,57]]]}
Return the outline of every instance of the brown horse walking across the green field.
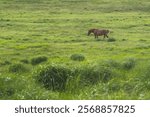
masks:
{"label": "brown horse walking across the green field", "polygon": [[99,30],[99,29],[90,29],[90,30],[88,31],[88,36],[89,36],[91,33],[94,34],[95,39],[98,38],[98,36],[102,36],[102,35],[104,35],[104,38],[105,38],[105,37],[108,38],[109,30],[104,30],[104,29],[102,29],[102,30]]}

